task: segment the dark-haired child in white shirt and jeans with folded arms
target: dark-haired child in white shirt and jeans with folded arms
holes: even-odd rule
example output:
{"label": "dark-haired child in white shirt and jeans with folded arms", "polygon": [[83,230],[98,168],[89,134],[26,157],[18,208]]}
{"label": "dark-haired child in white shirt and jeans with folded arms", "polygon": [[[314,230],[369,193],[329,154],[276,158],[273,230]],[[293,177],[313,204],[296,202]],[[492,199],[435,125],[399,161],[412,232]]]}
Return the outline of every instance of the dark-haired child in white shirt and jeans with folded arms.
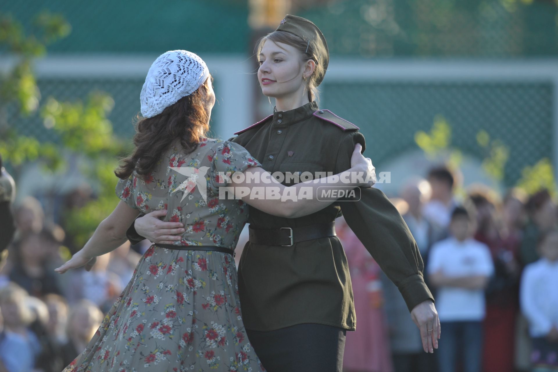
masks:
{"label": "dark-haired child in white shirt and jeans with folded arms", "polygon": [[464,372],[480,372],[484,287],[494,268],[488,247],[474,240],[473,213],[458,206],[451,214],[450,238],[432,246],[427,272],[437,287],[436,308],[444,342],[437,353],[440,371],[453,372],[458,354]]}

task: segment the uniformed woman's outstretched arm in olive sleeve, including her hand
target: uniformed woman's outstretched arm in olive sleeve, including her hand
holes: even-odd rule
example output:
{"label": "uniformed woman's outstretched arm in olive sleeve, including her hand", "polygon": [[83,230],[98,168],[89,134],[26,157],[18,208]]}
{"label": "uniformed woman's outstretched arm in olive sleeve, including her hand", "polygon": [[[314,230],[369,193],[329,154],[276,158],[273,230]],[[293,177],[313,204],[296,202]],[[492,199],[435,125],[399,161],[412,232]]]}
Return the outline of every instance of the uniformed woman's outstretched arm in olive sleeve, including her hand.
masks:
{"label": "uniformed woman's outstretched arm in olive sleeve, including her hand", "polygon": [[[350,133],[341,143],[336,171],[349,166],[355,143],[364,144],[360,132]],[[381,190],[363,189],[359,201],[339,201],[349,227],[399,289],[411,317],[419,327],[422,346],[434,352],[440,323],[434,298],[424,282],[424,264],[419,248],[401,214]]]}

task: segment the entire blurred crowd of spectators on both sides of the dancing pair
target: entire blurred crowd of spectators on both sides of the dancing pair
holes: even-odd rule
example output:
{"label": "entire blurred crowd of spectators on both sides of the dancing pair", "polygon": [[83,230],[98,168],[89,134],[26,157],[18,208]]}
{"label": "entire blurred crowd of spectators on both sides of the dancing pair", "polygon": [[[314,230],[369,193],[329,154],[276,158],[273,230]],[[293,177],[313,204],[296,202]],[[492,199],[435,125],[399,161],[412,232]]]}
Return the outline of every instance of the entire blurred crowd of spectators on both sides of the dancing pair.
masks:
{"label": "entire blurred crowd of spectators on both sides of the dancing pair", "polygon": [[[338,219],[358,320],[347,332],[345,370],[558,370],[558,211],[549,191],[498,195],[473,186],[458,197],[458,179],[438,166],[392,199],[436,298],[434,354],[422,351],[397,287]],[[31,196],[12,210],[17,229],[0,270],[0,372],[59,372],[84,350],[150,243],[122,245],[90,272],[60,275],[54,268],[81,248],[64,221],[45,218]]]}

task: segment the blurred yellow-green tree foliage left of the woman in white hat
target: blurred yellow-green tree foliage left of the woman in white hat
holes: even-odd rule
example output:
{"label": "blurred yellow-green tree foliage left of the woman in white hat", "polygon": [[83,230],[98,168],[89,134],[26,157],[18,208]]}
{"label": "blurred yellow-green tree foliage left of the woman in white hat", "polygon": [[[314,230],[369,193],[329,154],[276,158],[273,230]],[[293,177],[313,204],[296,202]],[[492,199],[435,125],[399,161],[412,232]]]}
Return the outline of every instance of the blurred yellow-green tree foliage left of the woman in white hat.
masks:
{"label": "blurred yellow-green tree foliage left of the woman in white hat", "polygon": [[[15,58],[12,69],[0,77],[0,153],[15,169],[16,179],[27,162],[40,161],[45,171],[56,172],[64,168],[68,158],[88,158],[80,172],[85,180],[97,185],[98,196],[64,216],[66,233],[80,247],[118,202],[114,196],[114,169],[118,157],[129,148],[114,136],[107,119],[114,107],[109,95],[94,91],[86,102],[60,102],[54,97],[41,102],[33,60],[45,55],[47,45],[68,36],[70,31],[62,16],[47,12],[36,17],[29,33],[18,21],[0,15],[0,48]],[[7,121],[8,107],[16,107],[23,117],[39,115],[45,128],[56,133],[59,143],[22,136],[17,125]]]}

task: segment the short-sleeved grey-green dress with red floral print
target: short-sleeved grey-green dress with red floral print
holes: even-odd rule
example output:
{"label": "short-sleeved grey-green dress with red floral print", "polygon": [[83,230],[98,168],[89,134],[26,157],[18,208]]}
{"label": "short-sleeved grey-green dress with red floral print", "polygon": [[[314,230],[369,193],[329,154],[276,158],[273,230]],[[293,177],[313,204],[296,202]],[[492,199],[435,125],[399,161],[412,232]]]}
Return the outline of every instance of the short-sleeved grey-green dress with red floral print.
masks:
{"label": "short-sleeved grey-green dress with red floral print", "polygon": [[[204,138],[190,154],[175,142],[155,172],[119,180],[116,193],[143,213],[167,209],[166,221],[184,223],[177,245],[234,249],[248,206],[219,199],[227,181],[220,172],[251,166],[261,165],[233,142]],[[232,255],[155,244],[64,372],[263,370],[244,330]]]}

